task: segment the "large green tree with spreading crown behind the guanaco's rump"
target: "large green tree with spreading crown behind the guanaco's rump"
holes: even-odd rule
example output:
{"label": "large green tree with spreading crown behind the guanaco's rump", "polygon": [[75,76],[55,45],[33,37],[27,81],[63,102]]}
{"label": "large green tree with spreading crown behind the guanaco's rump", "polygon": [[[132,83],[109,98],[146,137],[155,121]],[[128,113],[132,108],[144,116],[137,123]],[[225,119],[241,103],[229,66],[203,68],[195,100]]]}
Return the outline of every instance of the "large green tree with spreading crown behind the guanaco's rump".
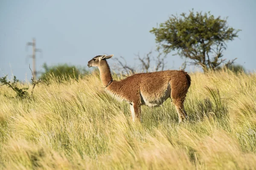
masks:
{"label": "large green tree with spreading crown behind the guanaco's rump", "polygon": [[238,32],[227,25],[227,17],[215,18],[210,12],[190,11],[180,16],[172,15],[165,23],[160,23],[159,28],[152,28],[150,32],[155,35],[158,49],[165,54],[177,51],[180,57],[190,59],[191,65],[201,66],[206,72],[215,70],[221,64],[226,67],[232,65],[234,60],[222,59],[226,50],[226,42],[238,37]]}

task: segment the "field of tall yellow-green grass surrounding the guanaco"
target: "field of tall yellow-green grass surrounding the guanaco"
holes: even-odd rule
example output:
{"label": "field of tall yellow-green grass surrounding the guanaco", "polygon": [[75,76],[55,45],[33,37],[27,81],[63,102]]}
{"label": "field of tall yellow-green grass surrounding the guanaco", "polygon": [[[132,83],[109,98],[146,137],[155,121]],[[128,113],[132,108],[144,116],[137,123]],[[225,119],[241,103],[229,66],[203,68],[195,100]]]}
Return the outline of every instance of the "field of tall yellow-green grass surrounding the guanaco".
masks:
{"label": "field of tall yellow-green grass surrounding the guanaco", "polygon": [[0,86],[0,169],[256,169],[256,74],[190,76],[181,124],[170,100],[133,123],[96,73],[33,99]]}

